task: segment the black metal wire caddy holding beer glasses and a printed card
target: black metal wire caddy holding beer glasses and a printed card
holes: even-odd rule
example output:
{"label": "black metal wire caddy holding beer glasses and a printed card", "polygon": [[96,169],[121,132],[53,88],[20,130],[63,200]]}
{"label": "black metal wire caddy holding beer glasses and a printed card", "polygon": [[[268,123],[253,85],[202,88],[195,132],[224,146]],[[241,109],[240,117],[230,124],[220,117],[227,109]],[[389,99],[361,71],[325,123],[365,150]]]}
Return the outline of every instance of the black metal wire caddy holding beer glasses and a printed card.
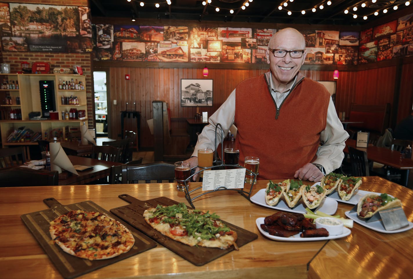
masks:
{"label": "black metal wire caddy holding beer glasses and a printed card", "polygon": [[[212,163],[213,166],[207,167],[207,168],[202,168],[202,169],[200,169],[199,171],[197,171],[197,172],[193,173],[192,175],[190,175],[190,176],[189,176],[187,179],[185,179],[185,180],[177,180],[177,181],[182,182],[183,184],[185,184],[185,188],[183,189],[183,192],[185,193],[185,199],[188,201],[188,203],[190,203],[190,205],[192,206],[192,208],[195,208],[194,203],[192,202],[193,200],[199,198],[200,196],[204,196],[204,195],[207,195],[207,194],[210,194],[210,193],[214,193],[214,192],[218,192],[218,191],[236,191],[236,192],[240,193],[242,196],[244,196],[244,198],[246,198],[247,200],[250,201],[251,192],[252,192],[252,187],[253,187],[254,184],[256,183],[256,177],[257,177],[258,173],[253,173],[252,171],[250,171],[250,170],[247,169],[246,172],[249,172],[249,173],[250,173],[251,175],[253,175],[253,177],[254,177],[254,178],[252,179],[252,182],[250,183],[250,184],[251,184],[251,187],[249,188],[249,191],[245,191],[244,188],[240,188],[240,189],[229,189],[228,187],[221,186],[221,187],[218,187],[218,188],[216,188],[216,189],[214,189],[214,190],[203,191],[201,194],[195,194],[194,192],[196,192],[196,191],[198,191],[198,192],[199,192],[199,190],[202,191],[202,185],[199,186],[199,187],[197,187],[197,188],[195,188],[195,189],[192,189],[192,190],[189,189],[188,183],[192,180],[192,177],[194,177],[194,175],[196,175],[196,174],[201,173],[201,172],[204,171],[204,170],[222,169],[222,168],[225,168],[225,166],[229,166],[229,167],[232,167],[232,168],[244,168],[243,166],[240,166],[240,165],[226,165],[226,164],[223,163],[223,161],[219,160],[218,154],[217,154],[217,152],[216,152],[216,150],[217,150],[217,137],[216,137],[216,136],[217,136],[218,128],[219,128],[219,132],[221,132],[221,158],[222,158],[222,159],[224,158],[224,157],[223,157],[223,154],[224,154],[223,128],[222,128],[222,125],[221,125],[220,123],[218,123],[218,124],[216,124],[216,126],[215,126],[215,158],[214,158],[214,162]],[[195,169],[195,168],[192,168],[192,169]],[[192,169],[191,169],[191,170],[192,170]],[[195,196],[191,196],[191,194],[192,194],[192,195],[195,194]]]}

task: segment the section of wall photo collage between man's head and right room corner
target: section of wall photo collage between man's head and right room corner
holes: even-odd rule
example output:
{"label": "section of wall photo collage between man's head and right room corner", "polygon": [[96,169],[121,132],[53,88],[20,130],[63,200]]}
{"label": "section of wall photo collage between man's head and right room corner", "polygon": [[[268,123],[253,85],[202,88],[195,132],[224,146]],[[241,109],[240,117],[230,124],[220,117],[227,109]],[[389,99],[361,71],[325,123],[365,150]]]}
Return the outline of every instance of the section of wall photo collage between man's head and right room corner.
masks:
{"label": "section of wall photo collage between man's head and right room corner", "polygon": [[306,40],[304,64],[357,65],[358,32],[300,32]]}

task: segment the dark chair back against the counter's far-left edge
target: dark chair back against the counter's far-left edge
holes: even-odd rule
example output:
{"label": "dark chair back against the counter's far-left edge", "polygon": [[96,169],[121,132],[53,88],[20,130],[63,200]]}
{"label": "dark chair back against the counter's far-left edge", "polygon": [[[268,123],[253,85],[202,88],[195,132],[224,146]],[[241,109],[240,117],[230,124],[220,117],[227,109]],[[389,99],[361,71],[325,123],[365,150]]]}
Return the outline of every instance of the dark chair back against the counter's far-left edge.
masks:
{"label": "dark chair back against the counter's far-left edge", "polygon": [[31,168],[7,168],[0,170],[1,187],[55,186],[59,185],[57,171]]}

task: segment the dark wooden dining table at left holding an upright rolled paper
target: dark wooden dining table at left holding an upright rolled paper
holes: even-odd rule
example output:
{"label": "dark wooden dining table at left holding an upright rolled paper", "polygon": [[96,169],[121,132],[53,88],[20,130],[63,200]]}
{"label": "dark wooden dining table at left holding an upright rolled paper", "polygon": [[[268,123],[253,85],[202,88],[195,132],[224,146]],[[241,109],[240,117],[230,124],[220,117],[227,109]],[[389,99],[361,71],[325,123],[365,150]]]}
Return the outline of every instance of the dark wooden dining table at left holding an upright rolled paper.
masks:
{"label": "dark wooden dining table at left holding an upright rolled paper", "polygon": [[93,168],[78,171],[79,175],[71,174],[65,179],[59,179],[59,185],[88,184],[92,181],[109,176],[112,166],[120,166],[122,164],[81,156],[68,155],[68,157],[74,165],[91,166]]}

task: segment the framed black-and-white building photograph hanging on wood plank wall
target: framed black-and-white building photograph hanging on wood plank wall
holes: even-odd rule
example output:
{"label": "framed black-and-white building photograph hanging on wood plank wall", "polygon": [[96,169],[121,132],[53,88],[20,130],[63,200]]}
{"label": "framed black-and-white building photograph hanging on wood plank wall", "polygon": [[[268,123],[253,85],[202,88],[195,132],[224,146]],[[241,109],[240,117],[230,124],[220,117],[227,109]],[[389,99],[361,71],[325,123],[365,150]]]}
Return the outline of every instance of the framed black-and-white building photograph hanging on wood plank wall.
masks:
{"label": "framed black-and-white building photograph hanging on wood plank wall", "polygon": [[212,106],[212,79],[181,79],[181,106]]}

